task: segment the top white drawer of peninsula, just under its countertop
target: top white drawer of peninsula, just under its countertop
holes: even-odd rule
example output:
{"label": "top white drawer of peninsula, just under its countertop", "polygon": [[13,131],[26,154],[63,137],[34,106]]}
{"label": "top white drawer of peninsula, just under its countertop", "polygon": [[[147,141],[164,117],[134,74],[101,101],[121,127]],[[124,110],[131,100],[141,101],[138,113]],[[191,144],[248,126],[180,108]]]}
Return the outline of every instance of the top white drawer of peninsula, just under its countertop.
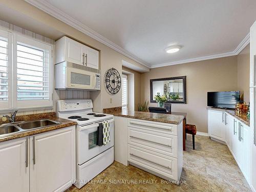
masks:
{"label": "top white drawer of peninsula, just under its countertop", "polygon": [[164,133],[168,135],[177,135],[176,124],[145,121],[140,119],[128,119],[127,126],[136,127],[141,130],[151,130],[153,132]]}

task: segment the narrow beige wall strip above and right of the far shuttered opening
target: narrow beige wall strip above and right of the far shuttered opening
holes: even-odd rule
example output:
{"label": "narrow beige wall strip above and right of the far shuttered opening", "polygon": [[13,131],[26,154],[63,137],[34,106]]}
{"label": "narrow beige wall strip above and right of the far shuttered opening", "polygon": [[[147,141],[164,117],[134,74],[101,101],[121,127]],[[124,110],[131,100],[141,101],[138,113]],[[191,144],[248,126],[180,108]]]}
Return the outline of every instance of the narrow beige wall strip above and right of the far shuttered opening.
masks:
{"label": "narrow beige wall strip above and right of the far shuttered opening", "polygon": [[141,73],[126,67],[122,67],[122,70],[128,71],[134,74],[134,110],[138,111],[138,104],[141,102],[141,91],[140,91],[142,86],[142,83],[140,81]]}

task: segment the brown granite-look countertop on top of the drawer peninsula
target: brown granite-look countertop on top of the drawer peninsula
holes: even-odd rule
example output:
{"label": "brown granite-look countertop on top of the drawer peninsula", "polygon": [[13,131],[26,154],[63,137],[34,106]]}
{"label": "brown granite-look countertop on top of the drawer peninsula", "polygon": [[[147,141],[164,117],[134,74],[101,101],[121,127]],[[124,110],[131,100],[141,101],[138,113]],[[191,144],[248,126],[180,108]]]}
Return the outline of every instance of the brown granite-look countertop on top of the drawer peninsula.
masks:
{"label": "brown granite-look countertop on top of the drawer peninsula", "polygon": [[183,115],[149,113],[149,112],[127,111],[127,110],[113,111],[108,113],[114,116],[127,117],[132,119],[141,119],[141,120],[147,120],[147,121],[156,121],[161,123],[171,123],[171,124],[180,124],[184,119]]}

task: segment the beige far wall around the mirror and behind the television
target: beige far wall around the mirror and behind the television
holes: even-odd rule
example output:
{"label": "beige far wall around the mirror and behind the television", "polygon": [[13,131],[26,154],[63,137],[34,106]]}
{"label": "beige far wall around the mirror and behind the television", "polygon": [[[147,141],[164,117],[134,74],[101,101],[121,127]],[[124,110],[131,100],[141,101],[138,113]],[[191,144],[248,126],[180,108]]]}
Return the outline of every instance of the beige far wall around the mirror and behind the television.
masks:
{"label": "beige far wall around the mirror and behind the television", "polygon": [[141,101],[150,101],[150,79],[187,76],[187,104],[172,104],[172,111],[186,112],[187,123],[207,132],[207,91],[237,90],[237,69],[237,56],[151,69],[141,74]]}

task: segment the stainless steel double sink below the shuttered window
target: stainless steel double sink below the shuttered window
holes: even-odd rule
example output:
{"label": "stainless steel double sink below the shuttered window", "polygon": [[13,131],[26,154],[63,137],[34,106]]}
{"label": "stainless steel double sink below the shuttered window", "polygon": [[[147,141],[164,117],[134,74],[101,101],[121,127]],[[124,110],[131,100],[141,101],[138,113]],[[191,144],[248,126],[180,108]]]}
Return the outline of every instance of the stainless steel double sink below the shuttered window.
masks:
{"label": "stainless steel double sink below the shuttered window", "polygon": [[12,135],[18,132],[24,132],[28,130],[41,129],[43,127],[61,124],[60,122],[50,119],[39,119],[33,121],[22,121],[0,125],[0,137]]}

